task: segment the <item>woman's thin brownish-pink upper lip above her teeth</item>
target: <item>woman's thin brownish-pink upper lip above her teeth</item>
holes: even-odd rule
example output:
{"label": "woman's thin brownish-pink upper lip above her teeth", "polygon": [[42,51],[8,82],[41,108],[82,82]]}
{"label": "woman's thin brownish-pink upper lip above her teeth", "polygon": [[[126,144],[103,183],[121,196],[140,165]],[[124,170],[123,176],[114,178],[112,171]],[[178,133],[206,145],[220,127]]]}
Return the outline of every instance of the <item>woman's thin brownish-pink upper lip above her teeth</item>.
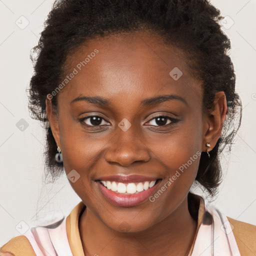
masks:
{"label": "woman's thin brownish-pink upper lip above her teeth", "polygon": [[143,175],[109,175],[98,177],[96,180],[104,180],[104,181],[117,181],[117,182],[144,182],[157,180],[159,177],[149,177]]}

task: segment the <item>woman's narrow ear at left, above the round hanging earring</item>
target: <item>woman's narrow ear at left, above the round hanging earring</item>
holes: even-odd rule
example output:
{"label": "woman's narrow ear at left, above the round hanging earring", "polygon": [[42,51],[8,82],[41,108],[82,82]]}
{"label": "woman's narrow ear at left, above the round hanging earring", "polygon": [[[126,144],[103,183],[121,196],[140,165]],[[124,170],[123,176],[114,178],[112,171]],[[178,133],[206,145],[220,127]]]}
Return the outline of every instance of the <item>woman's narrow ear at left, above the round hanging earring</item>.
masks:
{"label": "woman's narrow ear at left, above the round hanging earring", "polygon": [[61,149],[57,112],[55,109],[53,109],[50,99],[47,99],[47,98],[45,99],[45,105],[46,105],[46,114],[50,123],[52,135],[56,141],[57,146],[59,146]]}

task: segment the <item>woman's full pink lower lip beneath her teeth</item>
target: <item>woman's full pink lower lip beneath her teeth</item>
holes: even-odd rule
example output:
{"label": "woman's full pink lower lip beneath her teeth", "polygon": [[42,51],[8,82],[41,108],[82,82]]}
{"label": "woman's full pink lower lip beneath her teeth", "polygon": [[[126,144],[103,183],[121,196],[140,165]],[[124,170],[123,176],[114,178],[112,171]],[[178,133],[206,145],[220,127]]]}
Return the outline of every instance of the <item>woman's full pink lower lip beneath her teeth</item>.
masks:
{"label": "woman's full pink lower lip beneath her teeth", "polygon": [[135,206],[137,204],[140,204],[144,202],[146,199],[148,199],[148,197],[154,192],[154,190],[160,183],[159,181],[160,180],[157,180],[156,184],[148,188],[147,190],[143,190],[136,194],[116,193],[106,188],[105,186],[103,186],[99,181],[97,181],[97,184],[98,184],[99,190],[109,202],[117,206],[129,207],[129,206]]}

